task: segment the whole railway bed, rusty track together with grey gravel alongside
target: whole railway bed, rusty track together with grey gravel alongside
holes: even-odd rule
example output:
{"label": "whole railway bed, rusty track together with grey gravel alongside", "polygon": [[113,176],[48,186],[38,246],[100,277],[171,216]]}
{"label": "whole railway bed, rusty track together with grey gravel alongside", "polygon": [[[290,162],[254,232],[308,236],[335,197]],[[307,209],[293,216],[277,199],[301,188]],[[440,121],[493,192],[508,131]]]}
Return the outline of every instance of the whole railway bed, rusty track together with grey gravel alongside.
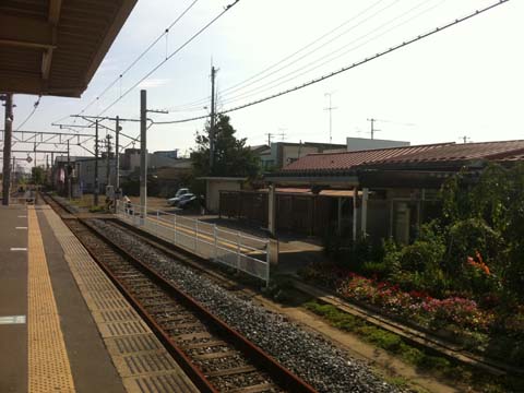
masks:
{"label": "whole railway bed, rusty track together with grey gravel alongside", "polygon": [[[215,284],[192,255],[144,241],[112,219],[72,212],[64,202],[45,199],[201,391],[406,391],[384,382],[369,364],[349,356],[322,335]],[[196,266],[194,262],[199,262]],[[193,306],[199,305],[202,310],[194,312]],[[209,324],[211,320],[215,322]]]}

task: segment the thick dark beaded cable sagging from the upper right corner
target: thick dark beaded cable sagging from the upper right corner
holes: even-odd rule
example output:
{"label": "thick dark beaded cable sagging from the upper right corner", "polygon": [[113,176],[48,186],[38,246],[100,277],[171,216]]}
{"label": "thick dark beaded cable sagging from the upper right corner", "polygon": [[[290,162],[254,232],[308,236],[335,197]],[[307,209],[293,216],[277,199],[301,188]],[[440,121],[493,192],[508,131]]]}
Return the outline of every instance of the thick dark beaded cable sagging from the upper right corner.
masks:
{"label": "thick dark beaded cable sagging from the upper right corner", "polygon": [[[288,90],[285,90],[285,91],[282,91],[282,92],[272,94],[272,95],[270,95],[270,96],[266,96],[266,97],[263,97],[263,98],[260,98],[260,99],[250,102],[250,103],[248,103],[248,104],[243,104],[243,105],[239,105],[239,106],[237,106],[237,107],[233,107],[233,108],[229,108],[229,109],[226,109],[226,110],[222,110],[222,111],[219,111],[217,115],[228,114],[228,112],[233,112],[233,111],[236,111],[236,110],[245,109],[245,108],[251,107],[251,106],[253,106],[253,105],[258,105],[258,104],[261,104],[261,103],[264,103],[264,102],[267,102],[267,100],[271,100],[271,99],[281,97],[281,96],[283,96],[283,95],[286,95],[286,94],[289,94],[289,93],[293,93],[293,92],[302,90],[302,88],[308,87],[308,86],[311,86],[311,85],[313,85],[313,84],[323,82],[323,81],[325,81],[325,80],[327,80],[327,79],[330,79],[330,78],[333,78],[333,76],[338,75],[338,74],[341,74],[341,73],[343,73],[343,72],[346,72],[346,71],[349,71],[349,70],[352,70],[352,69],[355,69],[355,68],[357,68],[357,67],[359,67],[359,66],[362,66],[362,64],[368,63],[368,62],[370,62],[370,61],[372,61],[372,60],[376,60],[376,59],[378,59],[378,58],[381,58],[381,57],[383,57],[383,56],[385,56],[385,55],[389,55],[389,53],[391,53],[391,52],[393,52],[393,51],[396,51],[396,50],[398,50],[398,49],[405,48],[405,47],[407,47],[407,46],[409,46],[409,45],[412,45],[412,44],[414,44],[414,43],[417,43],[417,41],[419,41],[419,40],[422,40],[422,39],[425,39],[425,38],[428,38],[428,37],[434,35],[434,34],[438,34],[438,33],[440,33],[440,32],[443,32],[443,31],[445,31],[445,29],[448,29],[448,28],[450,28],[450,27],[452,27],[452,26],[455,26],[455,25],[457,25],[457,24],[460,24],[460,23],[463,23],[463,22],[465,22],[465,21],[468,21],[468,20],[471,20],[471,19],[473,19],[473,17],[475,17],[475,16],[477,16],[477,15],[484,14],[484,13],[486,13],[487,11],[492,10],[492,9],[499,7],[499,5],[503,4],[503,3],[507,3],[507,2],[509,2],[509,1],[510,1],[510,0],[499,0],[499,1],[496,2],[496,3],[492,3],[492,4],[490,4],[490,5],[487,5],[487,7],[483,8],[483,9],[476,10],[476,11],[474,11],[474,12],[472,12],[472,13],[469,13],[469,14],[463,16],[463,17],[455,19],[453,22],[449,22],[449,23],[446,23],[446,24],[444,24],[444,25],[442,25],[442,26],[436,27],[436,28],[433,28],[433,29],[431,29],[431,31],[429,31],[429,32],[427,32],[427,33],[420,34],[420,35],[418,35],[418,36],[416,36],[416,37],[414,37],[414,38],[410,38],[410,39],[408,39],[408,40],[406,40],[406,41],[403,41],[403,43],[401,43],[401,44],[397,44],[397,45],[395,45],[395,46],[393,46],[393,47],[391,47],[391,48],[389,48],[389,49],[385,49],[385,50],[382,50],[382,51],[380,51],[380,52],[377,52],[376,55],[373,55],[373,56],[371,56],[371,57],[369,57],[369,58],[365,58],[365,59],[362,59],[362,60],[360,60],[360,61],[358,61],[358,62],[354,62],[354,63],[350,64],[350,66],[343,67],[342,69],[340,69],[340,70],[337,70],[337,71],[333,71],[333,72],[331,72],[331,73],[329,73],[329,74],[324,74],[324,75],[322,75],[322,76],[320,76],[320,78],[317,78],[317,79],[313,79],[313,80],[311,80],[311,81],[309,81],[309,82],[306,82],[306,83],[303,83],[303,84],[301,84],[301,85],[298,85],[298,86],[295,86],[295,87],[291,87],[291,88],[288,88]],[[179,120],[171,120],[171,121],[154,121],[154,123],[155,123],[155,124],[176,124],[176,123],[182,123],[182,122],[202,120],[202,119],[206,119],[207,117],[209,117],[209,116],[205,115],[205,116],[198,116],[198,117],[192,117],[192,118],[187,118],[187,119],[179,119]]]}

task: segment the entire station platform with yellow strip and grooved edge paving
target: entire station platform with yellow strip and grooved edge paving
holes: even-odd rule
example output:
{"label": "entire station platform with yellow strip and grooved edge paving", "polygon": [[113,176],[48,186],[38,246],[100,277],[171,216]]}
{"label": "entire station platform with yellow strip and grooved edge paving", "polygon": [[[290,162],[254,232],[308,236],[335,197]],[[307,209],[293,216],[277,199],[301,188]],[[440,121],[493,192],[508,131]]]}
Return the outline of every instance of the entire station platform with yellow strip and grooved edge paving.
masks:
{"label": "entire station platform with yellow strip and grooved edge paving", "polygon": [[0,392],[198,392],[48,205],[0,206]]}

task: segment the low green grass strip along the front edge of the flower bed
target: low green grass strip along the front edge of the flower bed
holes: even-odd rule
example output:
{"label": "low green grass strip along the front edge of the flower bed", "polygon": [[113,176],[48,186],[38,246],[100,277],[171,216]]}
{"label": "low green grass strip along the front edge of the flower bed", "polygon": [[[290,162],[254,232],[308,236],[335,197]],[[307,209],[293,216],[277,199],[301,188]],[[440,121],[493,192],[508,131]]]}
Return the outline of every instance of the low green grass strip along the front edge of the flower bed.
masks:
{"label": "low green grass strip along the front edge of the flower bed", "polygon": [[[502,393],[524,391],[524,381],[513,377],[493,377],[478,369],[462,365],[452,359],[434,355],[406,342],[403,337],[377,327],[360,318],[338,310],[332,305],[310,300],[302,305],[306,309],[325,319],[332,326],[356,334],[362,341],[386,350],[422,371],[436,377],[444,377],[481,392]],[[404,383],[402,378],[395,383]],[[395,384],[394,383],[394,384]]]}

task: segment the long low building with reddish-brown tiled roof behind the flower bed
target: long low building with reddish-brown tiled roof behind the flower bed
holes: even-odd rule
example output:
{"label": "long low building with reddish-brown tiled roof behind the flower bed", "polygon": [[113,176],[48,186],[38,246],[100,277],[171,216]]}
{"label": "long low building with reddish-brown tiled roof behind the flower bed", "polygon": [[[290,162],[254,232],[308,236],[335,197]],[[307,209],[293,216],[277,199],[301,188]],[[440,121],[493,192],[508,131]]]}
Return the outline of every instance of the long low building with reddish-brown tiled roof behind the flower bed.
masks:
{"label": "long low building with reddish-brown tiled roof behind the flower bed", "polygon": [[[440,214],[437,196],[446,178],[460,170],[478,172],[490,162],[511,165],[522,158],[524,141],[308,154],[265,177],[264,223],[275,234],[282,229],[282,217],[290,215],[296,223],[309,223],[313,235],[319,235],[321,226],[326,228],[332,221],[338,230],[347,226],[354,239],[391,236],[408,242],[421,223]],[[311,194],[283,196],[279,189],[286,188],[306,189]],[[322,194],[325,191],[334,194]],[[336,195],[335,191],[345,192]],[[237,200],[236,205],[242,204]]]}

